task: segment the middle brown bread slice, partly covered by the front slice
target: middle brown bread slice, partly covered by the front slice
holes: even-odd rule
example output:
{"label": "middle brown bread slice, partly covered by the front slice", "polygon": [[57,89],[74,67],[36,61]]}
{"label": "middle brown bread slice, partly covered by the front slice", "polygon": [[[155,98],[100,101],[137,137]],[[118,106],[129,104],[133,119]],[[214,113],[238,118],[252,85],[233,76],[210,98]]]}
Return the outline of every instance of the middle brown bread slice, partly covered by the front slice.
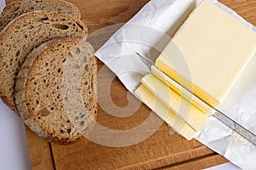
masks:
{"label": "middle brown bread slice, partly covered by the front slice", "polygon": [[16,111],[15,78],[33,48],[50,39],[87,36],[88,29],[83,22],[69,14],[37,11],[11,21],[0,33],[0,96],[3,101]]}

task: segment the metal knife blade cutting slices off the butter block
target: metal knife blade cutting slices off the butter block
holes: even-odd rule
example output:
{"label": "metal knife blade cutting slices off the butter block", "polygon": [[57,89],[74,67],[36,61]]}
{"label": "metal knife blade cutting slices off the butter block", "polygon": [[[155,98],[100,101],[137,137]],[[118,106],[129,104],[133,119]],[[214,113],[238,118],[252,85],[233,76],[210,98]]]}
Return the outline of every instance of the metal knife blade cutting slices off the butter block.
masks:
{"label": "metal knife blade cutting slices off the butter block", "polygon": [[[141,54],[138,54],[138,53],[136,54],[143,61],[143,63],[148,66],[148,68],[151,68],[152,66],[154,66],[154,62],[151,59],[148,59],[147,57]],[[154,69],[157,69],[158,71],[160,71],[156,66],[154,66]],[[165,73],[163,73],[162,71],[160,72],[165,75]],[[208,105],[206,102],[196,97],[188,89],[184,88],[174,80],[172,82],[173,82],[173,85],[176,86],[178,89],[181,89],[183,93],[187,94],[188,96],[193,96],[193,99],[195,99],[196,102],[201,103],[203,105]],[[210,105],[208,106],[212,108],[212,106]],[[248,131],[245,127],[241,126],[239,123],[232,120],[229,116],[226,116],[223,112],[218,111],[218,109],[212,108],[212,110],[213,110],[213,113],[211,115],[217,118],[218,121],[224,123],[226,126],[230,127],[232,130],[238,133],[242,138],[246,139],[248,142],[256,146],[256,135],[254,133]]]}

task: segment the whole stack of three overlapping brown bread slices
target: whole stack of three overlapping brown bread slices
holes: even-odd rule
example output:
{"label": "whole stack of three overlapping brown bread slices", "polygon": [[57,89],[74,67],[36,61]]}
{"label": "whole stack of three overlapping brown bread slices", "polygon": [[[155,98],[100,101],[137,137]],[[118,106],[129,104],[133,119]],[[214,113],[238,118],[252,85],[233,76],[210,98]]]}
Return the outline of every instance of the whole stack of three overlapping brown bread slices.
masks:
{"label": "whole stack of three overlapping brown bread slices", "polygon": [[0,15],[0,95],[38,136],[79,139],[96,119],[96,59],[79,8],[9,3]]}

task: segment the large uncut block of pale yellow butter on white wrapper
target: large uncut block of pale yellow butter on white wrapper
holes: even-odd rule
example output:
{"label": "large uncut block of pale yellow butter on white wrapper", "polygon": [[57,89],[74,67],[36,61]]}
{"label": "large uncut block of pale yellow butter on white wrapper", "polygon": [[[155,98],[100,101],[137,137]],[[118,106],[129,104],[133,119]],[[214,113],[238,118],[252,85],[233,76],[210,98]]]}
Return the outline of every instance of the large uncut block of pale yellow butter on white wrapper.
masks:
{"label": "large uncut block of pale yellow butter on white wrapper", "polygon": [[[173,65],[179,61],[177,50],[172,50],[173,42],[183,54],[190,75]],[[208,105],[216,107],[255,51],[256,33],[205,0],[189,15],[155,65]]]}

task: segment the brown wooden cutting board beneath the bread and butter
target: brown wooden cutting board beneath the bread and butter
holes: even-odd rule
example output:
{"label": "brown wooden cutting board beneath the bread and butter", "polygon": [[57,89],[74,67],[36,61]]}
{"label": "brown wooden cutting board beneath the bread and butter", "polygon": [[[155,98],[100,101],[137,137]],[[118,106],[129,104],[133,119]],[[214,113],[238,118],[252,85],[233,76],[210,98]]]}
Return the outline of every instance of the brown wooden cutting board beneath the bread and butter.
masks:
{"label": "brown wooden cutting board beneath the bread and butter", "polygon": [[[7,0],[9,3],[10,0]],[[148,0],[68,0],[76,4],[82,13],[82,20],[90,32],[105,26],[125,23],[148,3]],[[236,10],[247,21],[256,25],[255,0],[221,0]],[[115,31],[119,26],[116,26]],[[113,31],[107,32],[96,44],[99,48],[108,40]],[[103,64],[98,60],[98,70]],[[106,69],[99,77],[98,88],[106,88],[114,77],[113,72]],[[110,88],[111,99],[119,107],[128,104],[127,90],[115,77]],[[105,94],[98,94],[105,95]],[[129,94],[130,95],[130,94]],[[108,98],[103,102],[108,104]],[[139,102],[131,97],[132,102]],[[150,114],[145,105],[133,115],[118,118],[110,116],[98,105],[97,122],[113,129],[129,129],[144,122]],[[159,121],[157,116],[155,121]],[[154,123],[154,122],[153,122]],[[147,131],[147,129],[146,129]],[[223,156],[208,149],[195,139],[188,141],[177,134],[170,134],[170,128],[163,123],[148,139],[126,147],[108,147],[96,144],[89,139],[79,139],[66,146],[49,144],[38,138],[26,127],[32,169],[202,169],[227,162]],[[118,136],[116,137],[118,138]]]}

